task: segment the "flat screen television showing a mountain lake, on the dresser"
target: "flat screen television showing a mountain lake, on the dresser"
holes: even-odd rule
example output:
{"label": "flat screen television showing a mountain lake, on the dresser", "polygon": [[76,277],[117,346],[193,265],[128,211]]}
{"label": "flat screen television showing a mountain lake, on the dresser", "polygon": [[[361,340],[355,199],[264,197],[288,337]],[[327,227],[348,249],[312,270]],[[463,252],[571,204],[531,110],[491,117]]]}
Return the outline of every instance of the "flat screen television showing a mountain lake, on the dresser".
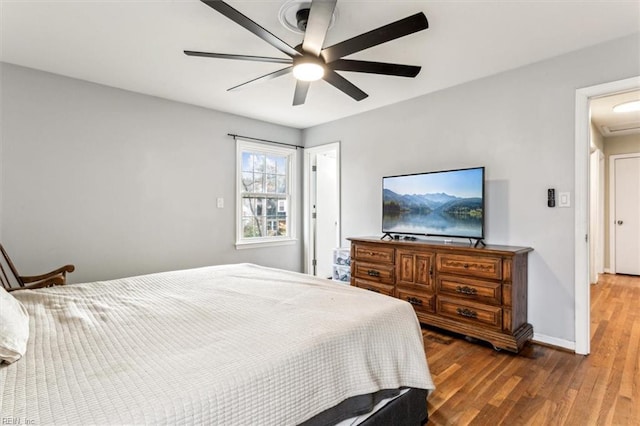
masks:
{"label": "flat screen television showing a mountain lake, on the dresser", "polygon": [[484,238],[484,167],[382,178],[382,232]]}

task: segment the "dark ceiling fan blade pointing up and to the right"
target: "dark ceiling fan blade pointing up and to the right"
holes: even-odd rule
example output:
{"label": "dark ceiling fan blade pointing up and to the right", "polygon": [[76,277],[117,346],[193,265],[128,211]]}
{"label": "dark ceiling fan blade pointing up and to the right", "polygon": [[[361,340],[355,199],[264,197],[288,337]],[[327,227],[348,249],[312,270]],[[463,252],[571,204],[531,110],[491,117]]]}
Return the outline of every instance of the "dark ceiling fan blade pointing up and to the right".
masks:
{"label": "dark ceiling fan blade pointing up and to the right", "polygon": [[325,62],[333,62],[352,53],[395,40],[409,34],[429,28],[427,17],[419,12],[383,27],[376,28],[359,36],[342,41],[323,49],[321,52]]}

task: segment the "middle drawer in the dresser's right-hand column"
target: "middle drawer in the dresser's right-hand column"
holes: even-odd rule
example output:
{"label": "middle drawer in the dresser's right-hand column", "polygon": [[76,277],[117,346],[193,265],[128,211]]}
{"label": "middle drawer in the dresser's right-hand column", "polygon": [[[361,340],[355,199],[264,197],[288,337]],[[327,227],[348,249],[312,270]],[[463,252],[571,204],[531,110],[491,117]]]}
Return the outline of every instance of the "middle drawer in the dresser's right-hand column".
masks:
{"label": "middle drawer in the dresser's right-hand column", "polygon": [[436,287],[438,294],[494,305],[502,303],[502,284],[492,281],[457,277],[455,275],[439,275]]}

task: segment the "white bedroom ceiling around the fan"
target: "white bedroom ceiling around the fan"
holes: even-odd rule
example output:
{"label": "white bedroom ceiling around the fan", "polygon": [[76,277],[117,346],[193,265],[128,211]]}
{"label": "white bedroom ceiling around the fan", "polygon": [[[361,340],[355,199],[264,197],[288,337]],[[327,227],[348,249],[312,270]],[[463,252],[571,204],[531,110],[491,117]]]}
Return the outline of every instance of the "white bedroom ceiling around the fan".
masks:
{"label": "white bedroom ceiling around the fan", "polygon": [[[198,0],[0,0],[0,60],[107,86],[306,128],[615,39],[640,30],[640,2],[339,0],[325,45],[423,11],[428,30],[351,58],[421,65],[415,78],[342,72],[356,102],[324,81],[293,107],[294,80],[226,89],[279,64],[187,57],[182,51],[283,56]],[[285,0],[228,0],[291,45]]]}

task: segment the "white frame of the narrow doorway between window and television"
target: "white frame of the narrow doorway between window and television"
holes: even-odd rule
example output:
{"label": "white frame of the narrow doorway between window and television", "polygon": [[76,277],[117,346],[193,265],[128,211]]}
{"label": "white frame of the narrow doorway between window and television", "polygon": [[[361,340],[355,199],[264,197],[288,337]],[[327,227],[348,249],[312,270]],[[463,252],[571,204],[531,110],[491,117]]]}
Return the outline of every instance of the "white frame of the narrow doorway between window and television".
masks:
{"label": "white frame of the narrow doorway between window and television", "polygon": [[342,184],[340,181],[340,169],[341,169],[341,161],[340,161],[340,142],[331,142],[324,145],[317,145],[311,148],[305,148],[304,150],[304,190],[303,190],[303,214],[304,214],[304,248],[303,248],[303,256],[304,256],[304,273],[312,274],[313,273],[313,255],[314,250],[313,247],[316,243],[315,241],[315,233],[314,233],[314,221],[312,218],[313,211],[313,195],[315,193],[315,189],[312,187],[313,185],[313,176],[312,176],[312,166],[313,159],[318,154],[335,151],[336,154],[336,182],[338,183],[338,192],[336,194],[337,197],[337,205],[338,205],[338,226],[337,226],[337,235],[336,235],[336,247],[340,245],[340,241],[342,238],[342,206],[341,206],[341,188]]}

